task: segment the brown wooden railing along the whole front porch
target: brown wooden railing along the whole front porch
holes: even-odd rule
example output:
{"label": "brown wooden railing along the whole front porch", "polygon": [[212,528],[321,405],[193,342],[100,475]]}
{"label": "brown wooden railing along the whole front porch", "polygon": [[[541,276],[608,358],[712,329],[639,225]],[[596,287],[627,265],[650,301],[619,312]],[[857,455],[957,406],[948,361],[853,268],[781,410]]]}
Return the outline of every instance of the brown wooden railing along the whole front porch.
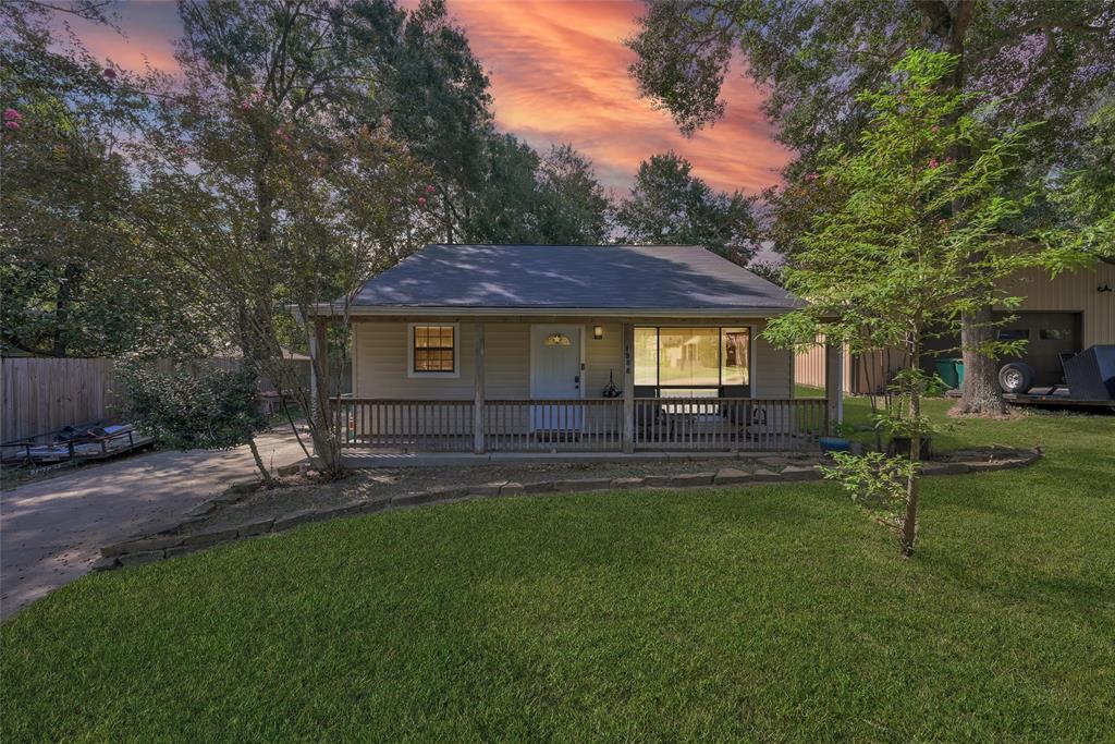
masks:
{"label": "brown wooden railing along the whole front porch", "polygon": [[[340,398],[345,447],[472,452],[473,400]],[[631,448],[807,450],[828,427],[824,398],[636,398]],[[488,452],[622,452],[622,398],[485,400]]]}

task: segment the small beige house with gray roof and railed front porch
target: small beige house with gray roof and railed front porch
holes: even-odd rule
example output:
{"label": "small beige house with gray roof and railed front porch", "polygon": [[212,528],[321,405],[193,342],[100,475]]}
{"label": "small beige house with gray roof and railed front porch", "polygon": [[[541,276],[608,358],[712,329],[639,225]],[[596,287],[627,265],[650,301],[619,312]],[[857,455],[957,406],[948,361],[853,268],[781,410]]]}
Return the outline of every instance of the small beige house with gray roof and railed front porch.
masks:
{"label": "small beige house with gray roof and railed front porch", "polygon": [[695,245],[440,244],[316,322],[352,326],[348,447],[784,450],[840,415],[762,337],[798,305]]}

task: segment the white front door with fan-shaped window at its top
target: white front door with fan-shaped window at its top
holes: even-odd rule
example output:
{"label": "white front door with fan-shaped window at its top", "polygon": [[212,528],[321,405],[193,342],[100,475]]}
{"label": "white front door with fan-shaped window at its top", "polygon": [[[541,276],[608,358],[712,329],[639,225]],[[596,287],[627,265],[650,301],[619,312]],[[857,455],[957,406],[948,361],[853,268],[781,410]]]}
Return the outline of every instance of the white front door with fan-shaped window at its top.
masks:
{"label": "white front door with fan-shaped window at its top", "polygon": [[[583,397],[580,326],[531,326],[531,398],[561,400]],[[580,431],[583,409],[576,405],[531,406],[531,431]]]}

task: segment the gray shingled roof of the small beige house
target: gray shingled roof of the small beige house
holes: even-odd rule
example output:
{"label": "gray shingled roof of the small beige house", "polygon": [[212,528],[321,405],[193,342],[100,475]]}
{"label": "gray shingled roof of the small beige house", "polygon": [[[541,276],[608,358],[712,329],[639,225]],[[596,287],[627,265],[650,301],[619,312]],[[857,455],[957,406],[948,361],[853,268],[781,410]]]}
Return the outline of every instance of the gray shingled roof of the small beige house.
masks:
{"label": "gray shingled roof of the small beige house", "polygon": [[698,245],[427,245],[360,308],[772,310],[798,300]]}

